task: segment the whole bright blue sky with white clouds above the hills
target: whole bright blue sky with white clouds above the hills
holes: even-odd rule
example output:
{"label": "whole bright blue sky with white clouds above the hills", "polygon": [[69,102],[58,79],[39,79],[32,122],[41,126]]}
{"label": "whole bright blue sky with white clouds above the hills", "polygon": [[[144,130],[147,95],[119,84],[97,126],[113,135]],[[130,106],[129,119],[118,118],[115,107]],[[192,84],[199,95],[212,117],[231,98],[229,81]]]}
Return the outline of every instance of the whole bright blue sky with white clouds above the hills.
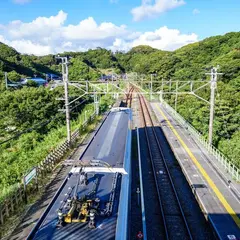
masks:
{"label": "whole bright blue sky with white clouds above the hills", "polygon": [[240,0],[4,0],[0,41],[37,55],[137,44],[174,50],[239,31],[239,12]]}

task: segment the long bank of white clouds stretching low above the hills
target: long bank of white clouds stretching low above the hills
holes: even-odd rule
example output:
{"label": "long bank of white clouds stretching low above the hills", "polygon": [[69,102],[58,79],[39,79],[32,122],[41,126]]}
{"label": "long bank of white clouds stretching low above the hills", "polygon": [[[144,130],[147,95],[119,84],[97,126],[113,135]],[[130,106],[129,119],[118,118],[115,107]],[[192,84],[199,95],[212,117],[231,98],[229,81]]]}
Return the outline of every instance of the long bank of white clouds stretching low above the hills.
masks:
{"label": "long bank of white clouds stretching low above the hills", "polygon": [[151,32],[134,32],[125,25],[97,23],[92,17],[76,25],[66,25],[66,20],[67,13],[59,11],[56,16],[38,17],[29,23],[12,21],[7,25],[0,25],[0,42],[21,53],[46,55],[97,47],[127,51],[142,44],[174,50],[198,40],[194,33],[182,34],[177,29],[167,27]]}

